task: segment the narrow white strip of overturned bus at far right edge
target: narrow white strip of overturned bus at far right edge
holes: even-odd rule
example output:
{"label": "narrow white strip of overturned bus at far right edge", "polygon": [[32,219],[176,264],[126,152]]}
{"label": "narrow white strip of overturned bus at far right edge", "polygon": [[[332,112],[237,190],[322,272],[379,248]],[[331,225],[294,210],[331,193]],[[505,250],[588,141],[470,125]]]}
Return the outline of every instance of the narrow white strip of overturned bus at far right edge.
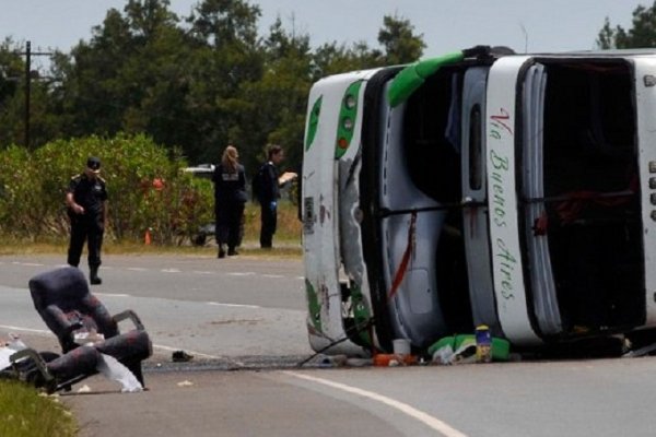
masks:
{"label": "narrow white strip of overturned bus at far right edge", "polygon": [[[651,82],[649,82],[651,81]],[[639,167],[645,252],[645,324],[656,326],[656,59],[635,60],[635,101],[637,107]],[[649,163],[654,163],[649,165]],[[652,168],[649,168],[652,167]],[[654,214],[654,215],[653,215]]]}

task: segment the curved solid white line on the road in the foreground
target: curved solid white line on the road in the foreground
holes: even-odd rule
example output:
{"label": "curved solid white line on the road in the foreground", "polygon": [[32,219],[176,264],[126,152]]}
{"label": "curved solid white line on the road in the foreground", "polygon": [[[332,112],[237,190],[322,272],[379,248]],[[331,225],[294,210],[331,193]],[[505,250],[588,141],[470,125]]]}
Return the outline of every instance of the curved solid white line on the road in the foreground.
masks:
{"label": "curved solid white line on the road in the foreground", "polygon": [[348,393],[358,394],[364,398],[368,398],[373,401],[384,403],[393,409],[400,411],[403,414],[409,415],[412,418],[418,420],[423,423],[427,427],[441,433],[445,437],[467,437],[466,434],[460,433],[456,428],[448,425],[446,422],[438,420],[437,417],[433,417],[432,415],[424,413],[421,410],[417,410],[413,406],[408,405],[407,403],[397,401],[391,398],[387,398],[383,394],[375,393],[373,391],[359,389],[356,387],[347,386],[345,383],[331,381],[329,379],[317,378],[309,375],[298,374],[292,370],[282,370],[283,374],[293,376],[295,378],[305,379],[312,382],[321,383],[324,386],[332,387],[333,389],[342,390]]}

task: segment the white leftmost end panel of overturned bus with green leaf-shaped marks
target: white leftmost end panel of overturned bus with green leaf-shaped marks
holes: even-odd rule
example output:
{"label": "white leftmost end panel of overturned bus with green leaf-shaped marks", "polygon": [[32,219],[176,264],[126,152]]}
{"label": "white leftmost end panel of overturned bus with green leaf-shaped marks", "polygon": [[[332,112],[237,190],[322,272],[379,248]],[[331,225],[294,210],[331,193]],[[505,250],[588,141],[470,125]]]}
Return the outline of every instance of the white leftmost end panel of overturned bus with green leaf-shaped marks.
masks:
{"label": "white leftmost end panel of overturned bus with green leaf-shaped marks", "polygon": [[[312,137],[313,140],[305,145],[302,184],[307,328],[315,351],[347,336],[339,280],[339,181],[335,146],[341,98],[349,84],[360,79],[354,73],[324,79],[313,86],[308,101],[311,120],[311,113],[316,110],[316,102],[320,98],[314,133],[308,135],[306,132],[306,139]],[[307,125],[309,127],[311,122]],[[342,341],[328,352],[364,354],[363,349],[351,341]]]}

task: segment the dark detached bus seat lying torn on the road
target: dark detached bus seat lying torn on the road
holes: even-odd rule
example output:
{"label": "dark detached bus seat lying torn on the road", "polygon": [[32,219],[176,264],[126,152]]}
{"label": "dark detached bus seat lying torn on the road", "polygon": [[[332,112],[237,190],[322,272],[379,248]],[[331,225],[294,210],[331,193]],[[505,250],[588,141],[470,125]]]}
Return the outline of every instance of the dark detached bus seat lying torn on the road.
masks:
{"label": "dark detached bus seat lying torn on the road", "polygon": [[[72,383],[95,375],[105,354],[125,365],[144,386],[141,362],[152,355],[152,343],[132,310],[110,316],[90,292],[84,274],[73,267],[32,277],[30,293],[37,312],[57,335],[62,355],[20,351],[12,362],[28,359],[23,359],[22,370],[20,365],[14,366],[19,373],[32,373],[32,378],[49,391],[70,389]],[[127,319],[134,328],[121,334],[118,323]]]}

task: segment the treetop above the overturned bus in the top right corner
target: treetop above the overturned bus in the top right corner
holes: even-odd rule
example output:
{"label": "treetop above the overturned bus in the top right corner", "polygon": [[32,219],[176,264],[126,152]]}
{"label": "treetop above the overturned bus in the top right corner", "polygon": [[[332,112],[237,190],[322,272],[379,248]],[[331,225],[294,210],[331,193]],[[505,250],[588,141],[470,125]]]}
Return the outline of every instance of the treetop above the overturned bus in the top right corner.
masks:
{"label": "treetop above the overturned bus in the top right corner", "polygon": [[656,47],[656,1],[651,8],[639,5],[633,11],[633,27],[612,26],[606,17],[597,46],[601,49]]}

